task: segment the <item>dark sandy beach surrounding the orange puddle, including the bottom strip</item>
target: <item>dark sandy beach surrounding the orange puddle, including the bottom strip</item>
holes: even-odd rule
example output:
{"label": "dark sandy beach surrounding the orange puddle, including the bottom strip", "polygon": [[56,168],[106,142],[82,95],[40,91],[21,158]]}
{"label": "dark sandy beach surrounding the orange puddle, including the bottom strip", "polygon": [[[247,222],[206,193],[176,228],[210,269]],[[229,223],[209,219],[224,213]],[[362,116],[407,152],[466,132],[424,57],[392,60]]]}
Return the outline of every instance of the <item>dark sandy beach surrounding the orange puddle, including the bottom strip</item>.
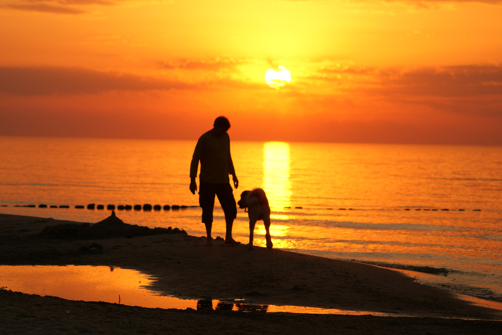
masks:
{"label": "dark sandy beach surrounding the orange puddle, including the bottom strip", "polygon": [[[502,311],[471,305],[403,274],[371,265],[205,238],[161,234],[100,240],[35,234],[65,221],[0,214],[0,265],[105,265],[158,278],[181,298],[385,312],[393,316],[166,310],[0,293],[3,333],[500,333]],[[102,253],[79,252],[92,242]],[[249,293],[255,295],[250,296]],[[257,293],[258,292],[258,293]],[[256,295],[259,294],[259,295]],[[446,319],[445,319],[446,318]],[[483,319],[486,321],[449,318]],[[491,320],[491,321],[488,321]],[[207,327],[207,328],[206,328]]]}

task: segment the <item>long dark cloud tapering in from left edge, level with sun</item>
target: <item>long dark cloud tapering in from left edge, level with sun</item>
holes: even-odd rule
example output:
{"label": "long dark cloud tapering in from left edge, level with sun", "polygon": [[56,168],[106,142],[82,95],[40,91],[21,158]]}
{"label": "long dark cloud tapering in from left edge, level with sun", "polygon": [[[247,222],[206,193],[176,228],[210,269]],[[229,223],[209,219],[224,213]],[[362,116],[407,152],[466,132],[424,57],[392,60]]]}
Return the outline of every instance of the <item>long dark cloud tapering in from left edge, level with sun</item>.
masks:
{"label": "long dark cloud tapering in from left edge, level with sun", "polygon": [[79,68],[0,67],[0,92],[15,95],[96,94],[111,90],[146,91],[197,88],[195,85],[180,81]]}

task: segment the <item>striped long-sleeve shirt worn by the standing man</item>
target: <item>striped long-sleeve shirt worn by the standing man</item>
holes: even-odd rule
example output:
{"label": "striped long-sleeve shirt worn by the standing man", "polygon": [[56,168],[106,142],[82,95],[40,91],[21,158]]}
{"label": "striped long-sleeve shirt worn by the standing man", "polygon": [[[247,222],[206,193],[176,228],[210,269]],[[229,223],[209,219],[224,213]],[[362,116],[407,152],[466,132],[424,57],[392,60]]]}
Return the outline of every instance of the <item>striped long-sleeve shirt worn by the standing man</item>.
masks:
{"label": "striped long-sleeve shirt worn by the standing man", "polygon": [[230,137],[224,133],[216,137],[207,131],[200,136],[190,163],[190,177],[197,177],[200,160],[199,179],[206,183],[228,183],[228,174],[235,174],[230,155]]}

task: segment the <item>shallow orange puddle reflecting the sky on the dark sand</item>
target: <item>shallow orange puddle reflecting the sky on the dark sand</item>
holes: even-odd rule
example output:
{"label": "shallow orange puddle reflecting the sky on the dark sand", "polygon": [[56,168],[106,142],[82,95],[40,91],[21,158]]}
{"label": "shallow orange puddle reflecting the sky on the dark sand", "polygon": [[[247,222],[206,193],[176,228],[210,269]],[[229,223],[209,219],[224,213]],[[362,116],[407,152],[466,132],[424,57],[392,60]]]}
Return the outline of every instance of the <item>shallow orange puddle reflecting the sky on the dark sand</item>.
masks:
{"label": "shallow orange puddle reflecting the sky on the dark sand", "polygon": [[[28,294],[52,295],[68,300],[105,301],[149,308],[218,309],[244,312],[318,314],[372,314],[352,310],[300,306],[253,305],[236,300],[192,300],[160,295],[148,289],[152,276],[137,270],[91,265],[0,265],[0,287]],[[120,300],[119,300],[120,299]]]}

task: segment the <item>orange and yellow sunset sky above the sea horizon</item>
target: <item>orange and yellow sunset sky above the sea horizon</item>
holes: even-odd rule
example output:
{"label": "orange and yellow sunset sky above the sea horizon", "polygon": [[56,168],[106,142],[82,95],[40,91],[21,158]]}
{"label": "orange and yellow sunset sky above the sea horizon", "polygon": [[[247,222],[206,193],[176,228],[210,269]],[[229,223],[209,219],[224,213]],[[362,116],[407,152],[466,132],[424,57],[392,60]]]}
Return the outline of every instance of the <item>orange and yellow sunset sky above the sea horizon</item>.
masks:
{"label": "orange and yellow sunset sky above the sea horizon", "polygon": [[[0,0],[0,135],[502,145],[496,1]],[[292,81],[276,89],[269,68]]]}

